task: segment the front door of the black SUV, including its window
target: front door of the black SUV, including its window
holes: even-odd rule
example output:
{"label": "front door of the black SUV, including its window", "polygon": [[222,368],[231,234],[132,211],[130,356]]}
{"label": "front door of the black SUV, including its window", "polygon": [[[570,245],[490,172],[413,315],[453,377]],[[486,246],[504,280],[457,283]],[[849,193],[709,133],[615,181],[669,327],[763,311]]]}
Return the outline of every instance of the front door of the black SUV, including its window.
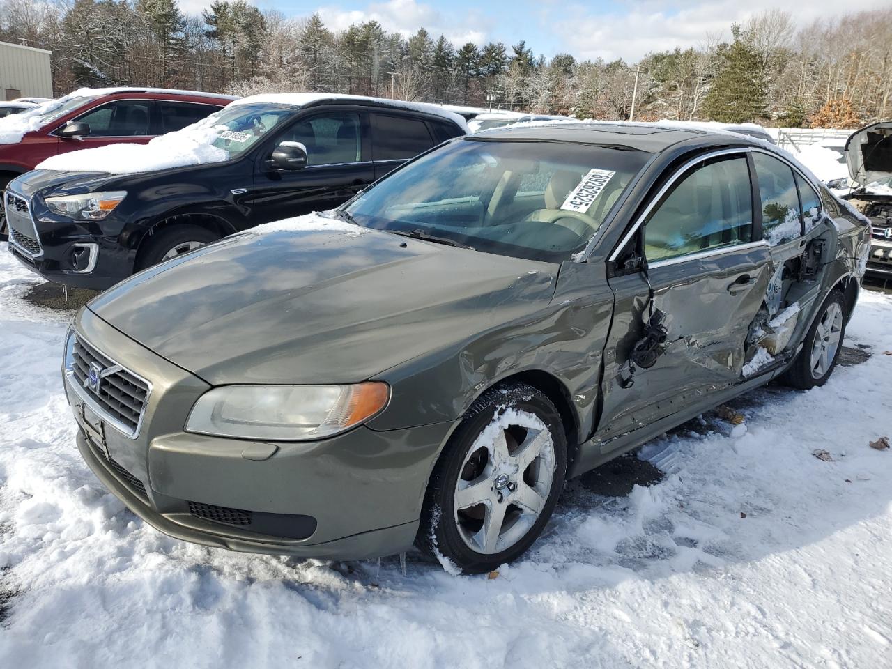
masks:
{"label": "front door of the black SUV, including its window", "polygon": [[[307,149],[303,169],[276,169],[270,163],[282,142]],[[252,223],[334,209],[375,180],[365,111],[326,110],[301,115],[260,153],[251,198]]]}

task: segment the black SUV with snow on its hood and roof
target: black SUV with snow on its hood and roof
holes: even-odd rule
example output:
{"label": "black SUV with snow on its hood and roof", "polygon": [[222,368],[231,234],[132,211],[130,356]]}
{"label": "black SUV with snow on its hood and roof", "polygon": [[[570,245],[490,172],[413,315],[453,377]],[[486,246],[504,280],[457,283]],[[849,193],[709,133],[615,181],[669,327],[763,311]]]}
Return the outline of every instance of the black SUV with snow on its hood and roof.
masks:
{"label": "black SUV with snow on its hood and roof", "polygon": [[[321,94],[244,98],[181,131],[184,142],[206,138],[211,158],[201,164],[157,169],[155,145],[151,171],[121,168],[121,154],[106,167],[111,153],[93,153],[115,148],[105,147],[64,156],[78,171],[36,169],[14,179],[5,195],[9,248],[51,281],[105,289],[245,228],[333,209],[466,131],[460,116],[434,105]],[[159,139],[176,149],[180,137]],[[138,146],[134,159],[152,150]]]}

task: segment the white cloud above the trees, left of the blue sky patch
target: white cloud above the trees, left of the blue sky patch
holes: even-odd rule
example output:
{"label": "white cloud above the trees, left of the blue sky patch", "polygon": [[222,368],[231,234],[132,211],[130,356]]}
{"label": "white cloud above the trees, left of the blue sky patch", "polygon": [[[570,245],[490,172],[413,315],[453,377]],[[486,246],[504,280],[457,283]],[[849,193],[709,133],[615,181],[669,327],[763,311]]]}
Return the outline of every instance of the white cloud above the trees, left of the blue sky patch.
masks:
{"label": "white cloud above the trees, left of the blue sky patch", "polygon": [[318,9],[319,16],[329,29],[343,30],[355,23],[377,21],[384,29],[409,37],[419,28],[426,29],[436,39],[444,35],[457,47],[466,42],[482,45],[487,40],[492,19],[478,10],[440,12],[430,4],[416,0],[389,0],[370,3],[362,10],[343,10],[337,6]]}

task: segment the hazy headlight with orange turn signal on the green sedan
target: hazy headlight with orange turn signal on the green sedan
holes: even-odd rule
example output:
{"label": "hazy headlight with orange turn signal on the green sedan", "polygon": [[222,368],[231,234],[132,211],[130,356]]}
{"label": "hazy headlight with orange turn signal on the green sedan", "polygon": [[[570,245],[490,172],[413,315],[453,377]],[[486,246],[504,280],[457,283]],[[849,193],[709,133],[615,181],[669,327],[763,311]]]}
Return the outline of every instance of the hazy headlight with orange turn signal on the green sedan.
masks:
{"label": "hazy headlight with orange turn signal on the green sedan", "polygon": [[347,430],[387,406],[390,388],[354,385],[227,385],[205,392],[186,432],[301,442]]}

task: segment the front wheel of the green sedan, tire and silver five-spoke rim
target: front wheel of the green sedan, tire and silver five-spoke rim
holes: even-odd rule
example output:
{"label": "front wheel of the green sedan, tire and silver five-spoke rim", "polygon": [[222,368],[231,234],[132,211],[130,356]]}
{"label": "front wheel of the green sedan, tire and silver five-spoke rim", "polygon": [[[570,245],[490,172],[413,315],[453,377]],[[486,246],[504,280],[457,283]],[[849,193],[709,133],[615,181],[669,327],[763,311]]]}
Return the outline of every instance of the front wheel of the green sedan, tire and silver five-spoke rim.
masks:
{"label": "front wheel of the green sedan, tire and silver five-spoke rim", "polygon": [[564,429],[551,401],[523,384],[487,392],[434,468],[418,542],[444,566],[491,571],[533,544],[565,475]]}

